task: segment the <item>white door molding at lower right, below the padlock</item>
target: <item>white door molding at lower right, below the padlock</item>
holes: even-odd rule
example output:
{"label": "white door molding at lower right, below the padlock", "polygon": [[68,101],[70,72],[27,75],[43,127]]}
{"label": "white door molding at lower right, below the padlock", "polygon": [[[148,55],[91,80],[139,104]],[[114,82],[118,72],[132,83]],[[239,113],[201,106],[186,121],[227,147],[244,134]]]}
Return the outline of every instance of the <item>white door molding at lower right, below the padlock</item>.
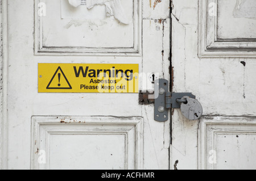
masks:
{"label": "white door molding at lower right, below the padlock", "polygon": [[[236,145],[237,142],[234,139],[236,138],[241,139],[241,137],[245,135],[246,136],[256,135],[256,117],[253,117],[253,116],[252,117],[204,116],[200,120],[198,134],[199,134],[198,136],[199,169],[203,169],[203,170],[219,169],[217,168],[217,163],[225,162],[220,158],[221,158],[221,155],[228,154],[227,153],[228,150],[222,150],[218,148],[218,146],[220,146],[221,143],[217,141],[217,137],[221,137],[221,136],[225,137],[225,138],[221,138],[222,141],[225,141],[224,139],[229,139],[231,137],[233,141],[235,141],[235,143],[230,141],[230,144]],[[213,153],[213,151],[216,151],[216,152]],[[235,152],[236,150],[234,149],[233,151]],[[216,158],[213,158],[214,156]],[[209,159],[211,161],[209,161]],[[212,159],[215,159],[215,163],[211,163],[213,161]],[[242,162],[242,158],[241,158],[241,162]],[[221,164],[223,165],[223,163]],[[233,165],[233,166],[236,166],[236,165]]]}

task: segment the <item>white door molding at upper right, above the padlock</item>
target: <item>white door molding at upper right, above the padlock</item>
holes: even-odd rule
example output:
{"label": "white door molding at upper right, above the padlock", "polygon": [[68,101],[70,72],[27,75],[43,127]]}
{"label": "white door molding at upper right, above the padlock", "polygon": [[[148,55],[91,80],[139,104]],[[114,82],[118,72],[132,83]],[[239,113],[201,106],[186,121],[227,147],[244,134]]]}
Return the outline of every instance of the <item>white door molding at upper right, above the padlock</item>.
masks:
{"label": "white door molding at upper right, above the padlock", "polygon": [[[216,6],[216,15],[209,15],[208,5]],[[250,39],[220,39],[217,27],[220,26],[218,19],[218,0],[199,0],[199,57],[256,57],[256,37]],[[223,18],[223,17],[222,17]],[[253,36],[253,35],[251,35]]]}

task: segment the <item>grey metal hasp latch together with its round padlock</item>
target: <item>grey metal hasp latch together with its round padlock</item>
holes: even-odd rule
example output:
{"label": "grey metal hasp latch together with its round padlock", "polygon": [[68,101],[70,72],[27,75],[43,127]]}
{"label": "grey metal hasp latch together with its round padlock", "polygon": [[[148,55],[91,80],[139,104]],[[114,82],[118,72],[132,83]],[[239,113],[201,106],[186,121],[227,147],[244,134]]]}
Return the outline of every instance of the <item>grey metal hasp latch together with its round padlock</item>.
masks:
{"label": "grey metal hasp latch together with its round padlock", "polygon": [[[195,99],[196,96],[192,93],[177,93],[168,92],[168,81],[166,79],[156,79],[155,80],[155,111],[154,117],[156,121],[167,121],[168,120],[168,110],[171,108],[181,108],[181,112],[185,117],[191,120],[199,118],[201,113],[203,113],[203,108],[201,104]],[[190,103],[192,101],[192,103]],[[189,105],[188,104],[191,104]],[[196,113],[195,110],[199,110]],[[193,112],[192,112],[193,111]],[[193,116],[191,116],[193,113]],[[197,117],[196,117],[197,116]]]}

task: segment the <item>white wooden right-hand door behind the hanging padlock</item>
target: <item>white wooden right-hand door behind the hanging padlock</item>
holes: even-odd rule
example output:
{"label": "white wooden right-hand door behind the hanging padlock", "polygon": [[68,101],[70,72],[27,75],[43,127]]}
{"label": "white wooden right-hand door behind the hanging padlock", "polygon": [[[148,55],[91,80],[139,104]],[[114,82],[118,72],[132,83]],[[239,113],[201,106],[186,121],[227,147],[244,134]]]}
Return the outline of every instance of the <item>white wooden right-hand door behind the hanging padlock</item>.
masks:
{"label": "white wooden right-hand door behind the hanging padlock", "polygon": [[175,92],[199,121],[172,115],[171,169],[256,169],[256,1],[173,0]]}

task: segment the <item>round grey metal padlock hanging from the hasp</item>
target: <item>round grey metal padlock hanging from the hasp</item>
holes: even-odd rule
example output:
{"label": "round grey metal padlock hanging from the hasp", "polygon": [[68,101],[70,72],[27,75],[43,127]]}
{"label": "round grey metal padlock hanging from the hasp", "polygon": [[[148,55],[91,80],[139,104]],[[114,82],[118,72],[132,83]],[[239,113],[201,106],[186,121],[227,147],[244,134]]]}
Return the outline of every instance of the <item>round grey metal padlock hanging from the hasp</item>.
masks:
{"label": "round grey metal padlock hanging from the hasp", "polygon": [[184,96],[181,100],[187,100],[185,103],[180,104],[181,113],[189,120],[197,120],[203,115],[203,107],[196,99]]}

